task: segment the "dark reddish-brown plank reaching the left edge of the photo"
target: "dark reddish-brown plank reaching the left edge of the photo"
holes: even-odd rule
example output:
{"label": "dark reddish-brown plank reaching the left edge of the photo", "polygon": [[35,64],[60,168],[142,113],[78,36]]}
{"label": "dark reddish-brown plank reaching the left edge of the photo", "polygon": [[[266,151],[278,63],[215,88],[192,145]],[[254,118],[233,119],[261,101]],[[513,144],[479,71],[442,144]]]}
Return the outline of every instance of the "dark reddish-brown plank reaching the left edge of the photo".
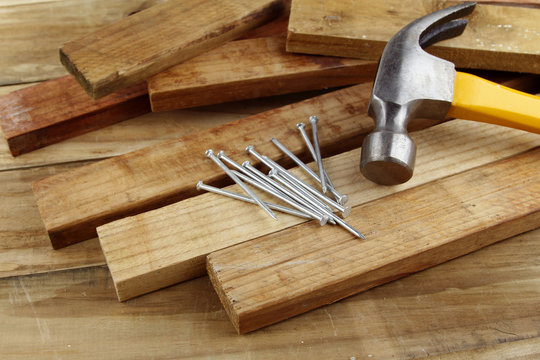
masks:
{"label": "dark reddish-brown plank reaching the left edge of the photo", "polygon": [[150,112],[146,84],[94,101],[70,75],[0,98],[0,127],[13,156]]}

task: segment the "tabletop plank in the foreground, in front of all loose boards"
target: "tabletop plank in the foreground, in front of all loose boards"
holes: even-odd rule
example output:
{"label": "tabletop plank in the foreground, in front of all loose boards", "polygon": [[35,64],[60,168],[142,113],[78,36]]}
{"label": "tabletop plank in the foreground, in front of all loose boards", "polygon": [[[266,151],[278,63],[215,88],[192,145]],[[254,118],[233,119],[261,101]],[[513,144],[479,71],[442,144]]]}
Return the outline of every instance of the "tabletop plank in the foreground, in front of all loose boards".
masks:
{"label": "tabletop plank in the foreground, in front of all loose boards", "polygon": [[0,356],[436,359],[501,342],[519,355],[538,342],[539,240],[536,230],[249,336],[206,277],[128,303],[105,267],[2,279]]}

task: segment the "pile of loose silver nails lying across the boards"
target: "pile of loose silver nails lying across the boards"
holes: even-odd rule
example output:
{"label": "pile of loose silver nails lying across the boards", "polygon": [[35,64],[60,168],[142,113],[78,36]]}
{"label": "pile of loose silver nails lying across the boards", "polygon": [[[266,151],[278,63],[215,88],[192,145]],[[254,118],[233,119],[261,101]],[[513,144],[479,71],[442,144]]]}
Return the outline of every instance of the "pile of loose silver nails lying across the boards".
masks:
{"label": "pile of loose silver nails lying across the boards", "polygon": [[[275,220],[277,220],[277,218],[272,210],[296,215],[305,219],[314,219],[317,220],[321,226],[326,223],[339,224],[353,235],[365,239],[362,233],[334,214],[334,211],[338,211],[341,213],[342,217],[345,218],[350,214],[351,208],[345,206],[345,203],[348,200],[347,196],[340,194],[335,189],[334,184],[324,169],[319,148],[317,122],[318,119],[316,116],[311,116],[309,118],[313,134],[313,143],[306,133],[304,123],[299,123],[296,127],[306,143],[313,160],[315,160],[315,163],[317,164],[319,174],[315,173],[277,139],[273,138],[271,141],[311,178],[313,178],[315,182],[320,184],[320,191],[301,180],[269,157],[259,154],[252,145],[246,148],[246,153],[268,167],[270,169],[268,175],[265,175],[263,172],[256,169],[249,161],[245,161],[240,165],[225,155],[223,151],[214,154],[213,150],[206,150],[206,157],[212,159],[236,184],[238,184],[238,186],[240,186],[240,188],[242,188],[247,196],[206,185],[202,181],[199,181],[197,184],[197,190],[206,190],[233,199],[257,204]],[[246,184],[276,197],[292,208],[262,201]],[[326,195],[327,192],[332,194],[333,199]]]}

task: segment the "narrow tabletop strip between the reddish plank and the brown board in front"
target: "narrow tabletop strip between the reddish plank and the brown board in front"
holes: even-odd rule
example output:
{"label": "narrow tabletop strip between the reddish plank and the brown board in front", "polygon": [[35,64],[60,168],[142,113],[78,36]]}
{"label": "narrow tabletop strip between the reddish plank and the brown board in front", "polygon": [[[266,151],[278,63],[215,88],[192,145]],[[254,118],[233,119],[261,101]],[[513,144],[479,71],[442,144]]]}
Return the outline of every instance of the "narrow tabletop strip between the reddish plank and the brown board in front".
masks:
{"label": "narrow tabletop strip between the reddish plank and the brown board in front", "polygon": [[0,136],[0,170],[100,160],[123,155],[321,93],[323,92],[296,93],[195,109],[148,113],[17,157],[11,155],[7,142]]}

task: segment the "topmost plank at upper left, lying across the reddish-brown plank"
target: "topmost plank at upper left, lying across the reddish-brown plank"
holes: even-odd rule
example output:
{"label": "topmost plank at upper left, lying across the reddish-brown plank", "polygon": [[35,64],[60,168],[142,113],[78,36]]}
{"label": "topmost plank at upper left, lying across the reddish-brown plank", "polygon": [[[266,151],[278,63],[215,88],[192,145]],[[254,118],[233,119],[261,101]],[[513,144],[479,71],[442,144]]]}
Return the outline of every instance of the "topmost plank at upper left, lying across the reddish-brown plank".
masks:
{"label": "topmost plank at upper left, lying across the reddish-brown plank", "polygon": [[97,99],[279,15],[280,0],[170,0],[64,44],[60,60]]}

